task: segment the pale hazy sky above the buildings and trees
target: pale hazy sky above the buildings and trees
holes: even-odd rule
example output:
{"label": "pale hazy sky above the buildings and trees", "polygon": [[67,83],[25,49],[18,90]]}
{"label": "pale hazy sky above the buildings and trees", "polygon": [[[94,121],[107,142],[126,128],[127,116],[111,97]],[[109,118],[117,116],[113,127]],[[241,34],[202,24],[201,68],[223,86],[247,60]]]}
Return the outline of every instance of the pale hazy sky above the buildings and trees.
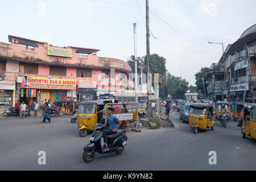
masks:
{"label": "pale hazy sky above the buildings and trees", "polygon": [[[256,23],[254,0],[149,0],[150,53],[168,72],[195,86],[195,73],[217,63],[228,44]],[[0,42],[8,35],[53,46],[100,49],[101,57],[127,61],[146,55],[146,0],[34,0],[0,2]]]}

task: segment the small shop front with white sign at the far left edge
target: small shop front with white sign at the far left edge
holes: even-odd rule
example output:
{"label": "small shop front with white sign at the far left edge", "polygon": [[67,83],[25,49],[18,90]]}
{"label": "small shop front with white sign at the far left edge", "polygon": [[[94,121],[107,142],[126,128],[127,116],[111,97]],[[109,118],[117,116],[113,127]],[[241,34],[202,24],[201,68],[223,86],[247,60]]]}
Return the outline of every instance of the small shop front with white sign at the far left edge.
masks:
{"label": "small shop front with white sign at the far left edge", "polygon": [[6,110],[15,104],[15,82],[0,81],[0,110]]}

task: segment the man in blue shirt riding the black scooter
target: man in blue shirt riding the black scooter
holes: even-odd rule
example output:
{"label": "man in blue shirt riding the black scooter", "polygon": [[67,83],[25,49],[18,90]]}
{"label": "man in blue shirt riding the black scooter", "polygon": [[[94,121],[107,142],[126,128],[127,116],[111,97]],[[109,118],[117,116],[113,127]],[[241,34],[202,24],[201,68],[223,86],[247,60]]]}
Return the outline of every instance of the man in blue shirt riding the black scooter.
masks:
{"label": "man in blue shirt riding the black scooter", "polygon": [[101,130],[103,132],[103,140],[105,143],[104,146],[102,147],[102,151],[109,150],[107,135],[115,134],[117,132],[118,128],[122,125],[122,122],[120,122],[119,119],[115,115],[113,115],[114,114],[113,107],[108,107],[107,113],[108,113],[109,117],[106,119],[104,126],[106,127],[106,125],[109,123],[110,127],[109,128],[106,127],[105,129]]}

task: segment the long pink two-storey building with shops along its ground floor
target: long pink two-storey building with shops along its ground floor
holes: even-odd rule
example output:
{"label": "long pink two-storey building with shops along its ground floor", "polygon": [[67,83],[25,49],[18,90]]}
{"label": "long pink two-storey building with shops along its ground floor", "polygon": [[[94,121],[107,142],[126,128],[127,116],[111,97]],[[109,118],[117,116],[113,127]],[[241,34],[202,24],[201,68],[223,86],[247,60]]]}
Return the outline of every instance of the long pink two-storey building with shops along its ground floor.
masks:
{"label": "long pink two-storey building with shops along its ground floor", "polygon": [[[124,89],[132,73],[123,60],[98,57],[99,49],[56,47],[9,35],[0,42],[0,110],[15,101],[76,97],[81,89]],[[15,89],[11,86],[15,83]],[[130,81],[130,85],[134,85]],[[16,91],[15,91],[16,90]],[[1,101],[2,98],[2,101]],[[10,100],[11,98],[11,100]],[[8,102],[7,102],[8,100]]]}

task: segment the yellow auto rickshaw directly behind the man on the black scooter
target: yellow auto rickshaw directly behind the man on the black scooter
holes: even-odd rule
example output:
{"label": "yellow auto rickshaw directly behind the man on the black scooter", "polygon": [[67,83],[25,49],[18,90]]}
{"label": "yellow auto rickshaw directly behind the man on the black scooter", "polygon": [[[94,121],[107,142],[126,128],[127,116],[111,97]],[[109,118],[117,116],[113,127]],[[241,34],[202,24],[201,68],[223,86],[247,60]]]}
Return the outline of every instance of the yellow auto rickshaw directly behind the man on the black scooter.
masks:
{"label": "yellow auto rickshaw directly behind the man on the black scooter", "polygon": [[94,126],[100,123],[102,115],[98,111],[104,109],[104,101],[86,101],[79,104],[77,110],[77,127],[81,137],[85,137]]}

